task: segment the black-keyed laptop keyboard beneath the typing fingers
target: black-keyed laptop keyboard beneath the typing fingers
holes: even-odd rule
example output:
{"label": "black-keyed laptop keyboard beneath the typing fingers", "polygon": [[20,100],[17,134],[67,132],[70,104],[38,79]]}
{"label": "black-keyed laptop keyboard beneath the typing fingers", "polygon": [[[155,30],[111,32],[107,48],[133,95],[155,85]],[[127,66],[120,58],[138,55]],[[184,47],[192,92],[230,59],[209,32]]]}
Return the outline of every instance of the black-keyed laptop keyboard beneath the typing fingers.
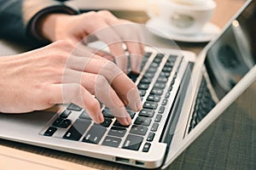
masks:
{"label": "black-keyed laptop keyboard beneath the typing fingers", "polygon": [[96,124],[84,109],[70,104],[49,121],[41,134],[148,152],[160,124],[165,124],[162,117],[169,113],[166,111],[166,105],[177,79],[177,69],[181,60],[182,57],[177,55],[146,53],[142,64],[143,73],[128,74],[133,82],[137,82],[137,88],[143,99],[142,111],[134,112],[129,107],[126,108],[132,119],[130,126],[122,126],[104,105],[102,105],[104,122]]}

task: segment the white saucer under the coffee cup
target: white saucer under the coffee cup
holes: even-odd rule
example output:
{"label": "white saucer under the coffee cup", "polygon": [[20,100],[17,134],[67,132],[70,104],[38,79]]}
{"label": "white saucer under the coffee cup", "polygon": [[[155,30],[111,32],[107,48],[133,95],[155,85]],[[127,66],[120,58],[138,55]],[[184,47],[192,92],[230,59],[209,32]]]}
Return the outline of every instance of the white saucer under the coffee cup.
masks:
{"label": "white saucer under the coffee cup", "polygon": [[158,18],[148,20],[146,26],[148,26],[148,31],[158,37],[172,39],[180,42],[209,42],[220,31],[218,26],[208,22],[207,25],[202,28],[201,32],[197,34],[181,35],[173,32],[170,26],[166,25]]}

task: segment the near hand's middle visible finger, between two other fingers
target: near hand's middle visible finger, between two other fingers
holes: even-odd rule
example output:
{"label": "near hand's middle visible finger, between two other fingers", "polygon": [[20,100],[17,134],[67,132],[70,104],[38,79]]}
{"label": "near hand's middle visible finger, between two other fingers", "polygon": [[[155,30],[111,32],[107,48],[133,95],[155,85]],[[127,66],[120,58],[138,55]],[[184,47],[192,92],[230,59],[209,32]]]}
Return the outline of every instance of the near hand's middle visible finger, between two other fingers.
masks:
{"label": "near hand's middle visible finger, between two other fingers", "polygon": [[105,77],[87,72],[73,71],[71,69],[66,71],[65,77],[64,83],[79,83],[87,89],[90,94],[96,95],[96,98],[104,105],[108,106],[113,116],[117,117],[121,124],[129,125],[131,123],[131,117],[125,110],[125,105],[119,99],[119,96],[114,92]]}

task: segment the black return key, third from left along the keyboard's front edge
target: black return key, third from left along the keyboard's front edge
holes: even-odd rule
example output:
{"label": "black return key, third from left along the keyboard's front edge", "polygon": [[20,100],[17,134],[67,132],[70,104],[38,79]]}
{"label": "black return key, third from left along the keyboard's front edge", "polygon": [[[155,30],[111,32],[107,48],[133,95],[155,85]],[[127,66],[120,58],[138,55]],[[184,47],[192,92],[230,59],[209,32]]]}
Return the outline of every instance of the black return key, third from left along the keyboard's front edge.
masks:
{"label": "black return key, third from left along the keyboard's front edge", "polygon": [[92,126],[90,127],[88,133],[86,133],[86,135],[84,136],[83,142],[98,144],[106,131],[106,127]]}

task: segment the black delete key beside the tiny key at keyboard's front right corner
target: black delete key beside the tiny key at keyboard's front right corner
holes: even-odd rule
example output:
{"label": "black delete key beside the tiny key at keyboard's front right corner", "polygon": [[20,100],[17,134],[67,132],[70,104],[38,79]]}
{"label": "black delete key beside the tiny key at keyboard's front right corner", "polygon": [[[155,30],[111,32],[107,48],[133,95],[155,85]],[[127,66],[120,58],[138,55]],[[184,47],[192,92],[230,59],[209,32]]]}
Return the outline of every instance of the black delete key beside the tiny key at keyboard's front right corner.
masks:
{"label": "black delete key beside the tiny key at keyboard's front right corner", "polygon": [[139,150],[142,143],[143,137],[128,134],[122,148],[127,150]]}

